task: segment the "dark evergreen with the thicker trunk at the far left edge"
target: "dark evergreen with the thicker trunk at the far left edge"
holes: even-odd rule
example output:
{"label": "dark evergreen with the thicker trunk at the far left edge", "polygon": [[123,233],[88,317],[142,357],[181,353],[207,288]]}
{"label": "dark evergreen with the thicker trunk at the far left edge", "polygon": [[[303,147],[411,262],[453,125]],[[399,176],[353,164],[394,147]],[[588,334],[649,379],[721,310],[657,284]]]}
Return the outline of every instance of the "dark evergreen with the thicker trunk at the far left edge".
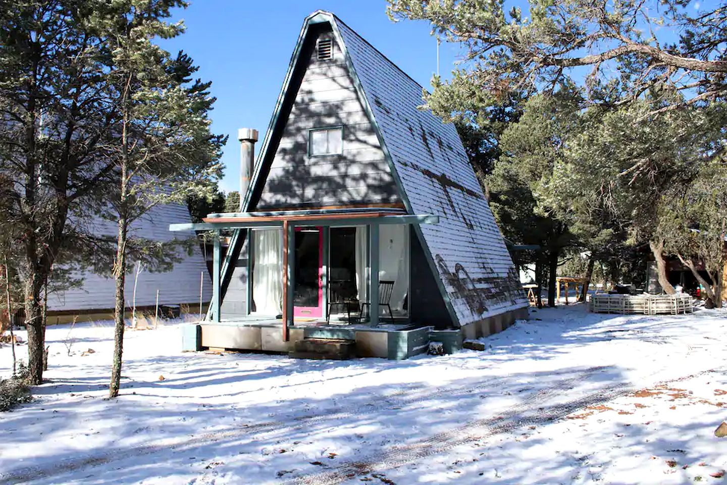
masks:
{"label": "dark evergreen with the thicker trunk at the far left edge", "polygon": [[[86,244],[119,111],[109,102],[105,33],[92,26],[104,1],[0,2],[0,172],[4,224],[20,234],[28,373],[41,384],[44,285],[59,258],[89,265]],[[108,249],[108,246],[105,248]],[[65,256],[64,256],[65,254]]]}

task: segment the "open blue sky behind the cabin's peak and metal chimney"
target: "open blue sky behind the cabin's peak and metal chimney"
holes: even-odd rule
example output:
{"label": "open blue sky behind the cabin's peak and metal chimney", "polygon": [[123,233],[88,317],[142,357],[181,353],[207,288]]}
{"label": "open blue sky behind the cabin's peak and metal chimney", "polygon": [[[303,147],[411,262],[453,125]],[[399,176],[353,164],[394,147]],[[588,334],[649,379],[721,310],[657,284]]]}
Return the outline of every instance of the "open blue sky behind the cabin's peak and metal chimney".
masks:
{"label": "open blue sky behind the cabin's peak and metal chimney", "polygon": [[[200,66],[198,76],[212,81],[217,97],[212,130],[230,135],[222,162],[224,191],[238,189],[237,129],[268,128],[303,19],[316,9],[334,12],[419,84],[429,87],[436,71],[436,40],[424,22],[393,23],[385,0],[193,0],[177,12],[186,33],[161,43],[170,52],[183,49]],[[459,47],[441,44],[440,70],[448,75]],[[260,143],[258,143],[260,145]]]}

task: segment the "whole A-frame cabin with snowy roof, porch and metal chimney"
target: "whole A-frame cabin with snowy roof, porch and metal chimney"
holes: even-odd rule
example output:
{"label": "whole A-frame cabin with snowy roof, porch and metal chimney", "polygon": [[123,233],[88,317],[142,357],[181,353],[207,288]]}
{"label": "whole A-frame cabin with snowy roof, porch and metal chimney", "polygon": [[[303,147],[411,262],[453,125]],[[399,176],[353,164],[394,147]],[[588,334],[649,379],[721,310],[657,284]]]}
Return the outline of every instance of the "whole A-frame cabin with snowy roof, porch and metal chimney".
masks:
{"label": "whole A-frame cabin with snowy roof, porch and metal chimney", "polygon": [[[457,130],[421,104],[422,87],[338,17],[306,17],[260,156],[243,162],[241,212],[172,225],[234,230],[186,348],[338,338],[406,358],[526,318]],[[257,132],[240,139],[252,164]]]}

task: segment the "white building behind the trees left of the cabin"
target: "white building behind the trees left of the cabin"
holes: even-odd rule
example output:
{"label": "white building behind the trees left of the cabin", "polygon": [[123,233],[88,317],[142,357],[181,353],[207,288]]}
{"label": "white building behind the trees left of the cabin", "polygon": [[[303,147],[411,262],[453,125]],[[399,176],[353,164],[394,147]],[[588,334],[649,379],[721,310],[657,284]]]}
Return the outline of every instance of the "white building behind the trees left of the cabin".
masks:
{"label": "white building behind the trees left of the cabin", "polygon": [[[138,220],[130,231],[137,236],[156,241],[171,241],[175,234],[169,232],[169,224],[179,220],[191,221],[187,207],[169,204],[155,207]],[[115,236],[116,224],[109,221],[95,222],[98,234]],[[177,233],[177,239],[195,236],[194,231]],[[190,311],[199,310],[200,286],[203,307],[212,297],[212,281],[200,247],[196,244],[191,255],[181,251],[183,259],[165,273],[152,273],[141,268],[137,278],[136,308],[153,312],[156,305],[156,291],[159,290],[159,305],[188,306]],[[126,276],[126,308],[132,307],[136,265],[129,262],[131,273]],[[80,288],[68,289],[48,295],[48,323],[64,323],[78,317],[79,321],[103,320],[113,317],[116,282],[113,278],[96,273],[83,273],[84,282]],[[202,285],[200,285],[202,281]]]}

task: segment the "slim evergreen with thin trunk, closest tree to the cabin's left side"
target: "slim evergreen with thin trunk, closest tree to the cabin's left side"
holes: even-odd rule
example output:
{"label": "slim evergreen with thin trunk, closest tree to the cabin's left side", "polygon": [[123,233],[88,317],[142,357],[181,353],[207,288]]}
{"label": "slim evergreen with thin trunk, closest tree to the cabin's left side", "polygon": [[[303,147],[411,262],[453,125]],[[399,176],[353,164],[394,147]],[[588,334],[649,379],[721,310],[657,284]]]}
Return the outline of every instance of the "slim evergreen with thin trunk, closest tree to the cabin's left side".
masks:
{"label": "slim evergreen with thin trunk, closest tree to the cabin's left side", "polygon": [[180,52],[172,57],[154,44],[157,38],[180,35],[181,23],[166,22],[181,0],[120,0],[97,11],[103,30],[110,32],[113,67],[108,73],[121,119],[111,157],[116,162],[116,189],[110,194],[108,216],[118,224],[116,310],[113,366],[109,396],[119,394],[124,337],[124,281],[132,257],[152,268],[174,262],[182,241],[161,244],[132,234],[132,223],[160,204],[184,204],[190,196],[206,196],[220,175],[225,137],[209,132],[214,97],[210,83],[192,82],[197,70]]}

